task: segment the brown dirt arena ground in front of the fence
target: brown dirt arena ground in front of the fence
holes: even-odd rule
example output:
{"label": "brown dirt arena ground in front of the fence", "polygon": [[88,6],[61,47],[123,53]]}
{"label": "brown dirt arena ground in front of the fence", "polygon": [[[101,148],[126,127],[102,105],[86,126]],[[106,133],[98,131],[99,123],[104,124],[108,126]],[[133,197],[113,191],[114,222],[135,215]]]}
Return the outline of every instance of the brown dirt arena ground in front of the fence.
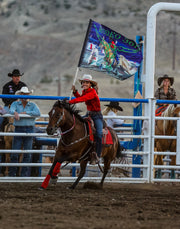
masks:
{"label": "brown dirt arena ground in front of the fence", "polygon": [[1,183],[0,228],[180,228],[180,184]]}

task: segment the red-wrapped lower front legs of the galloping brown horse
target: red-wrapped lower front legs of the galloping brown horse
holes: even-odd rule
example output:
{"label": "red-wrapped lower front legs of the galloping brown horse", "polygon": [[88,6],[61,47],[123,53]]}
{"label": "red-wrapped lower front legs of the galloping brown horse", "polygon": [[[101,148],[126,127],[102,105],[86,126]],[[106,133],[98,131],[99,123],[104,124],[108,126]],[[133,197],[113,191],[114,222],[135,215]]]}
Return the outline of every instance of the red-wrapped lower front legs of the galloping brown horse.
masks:
{"label": "red-wrapped lower front legs of the galloping brown horse", "polygon": [[[60,172],[61,163],[62,162],[59,162],[58,160],[54,160],[54,162],[53,162],[53,164],[49,170],[49,173],[47,174],[43,183],[41,184],[40,189],[46,189],[48,184],[49,184],[50,179],[52,179],[52,183],[57,182],[57,179],[58,179],[57,174]],[[55,181],[55,182],[53,182],[53,181]]]}

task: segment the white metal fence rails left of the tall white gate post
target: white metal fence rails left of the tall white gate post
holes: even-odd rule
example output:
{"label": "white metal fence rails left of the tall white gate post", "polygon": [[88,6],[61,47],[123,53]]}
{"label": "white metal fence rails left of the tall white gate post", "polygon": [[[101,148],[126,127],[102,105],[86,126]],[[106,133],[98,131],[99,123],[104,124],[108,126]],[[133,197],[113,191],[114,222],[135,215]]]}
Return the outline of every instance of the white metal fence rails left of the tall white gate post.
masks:
{"label": "white metal fence rails left of the tall white gate post", "polygon": [[[7,115],[6,115],[7,116]],[[44,117],[46,117],[44,115]],[[111,116],[104,116],[104,118],[112,118]],[[113,116],[114,118],[114,116]],[[144,116],[139,116],[139,117],[134,117],[134,116],[117,116],[116,118],[121,118],[121,119],[126,119],[126,120],[144,120],[144,119],[148,119],[148,117],[144,117]],[[54,137],[54,136],[49,136],[47,134],[44,134],[44,133],[32,133],[32,134],[24,134],[24,133],[0,133],[0,135],[4,135],[4,136],[35,136],[35,137]],[[124,139],[148,139],[149,136],[148,135],[132,135],[132,134],[120,134],[118,135],[118,137],[120,139],[124,138]],[[39,154],[43,154],[44,156],[45,155],[52,155],[54,156],[54,153],[55,153],[55,150],[0,150],[0,153],[39,153]],[[146,163],[143,163],[143,164],[132,164],[132,156],[133,155],[138,155],[138,156],[145,156],[147,154],[149,154],[149,152],[143,152],[143,151],[134,151],[134,150],[127,150],[125,152],[123,152],[123,154],[129,158],[129,161],[128,160],[125,160],[125,162],[121,163],[112,163],[111,164],[111,168],[115,169],[115,168],[123,168],[123,169],[126,169],[128,171],[130,171],[130,174],[131,174],[131,170],[133,168],[139,168],[141,170],[148,170],[149,169],[149,166],[148,164]],[[63,164],[64,165],[64,164]],[[2,166],[17,166],[17,167],[23,167],[23,166],[29,166],[29,167],[41,167],[42,170],[43,168],[50,168],[51,166],[51,163],[0,163],[0,167]],[[70,169],[70,168],[76,168],[78,169],[79,168],[79,163],[70,163],[67,165],[67,169]],[[88,170],[92,170],[94,169],[95,171],[97,171],[96,173],[98,173],[98,177],[91,177],[91,176],[87,176],[87,174],[89,174],[90,172],[87,172],[86,173],[86,177],[82,180],[85,181],[85,180],[100,180],[101,179],[101,173],[99,173],[99,169],[97,166],[91,166],[88,164],[87,166],[87,171]],[[47,170],[48,172],[48,170]],[[111,171],[110,173],[111,174]],[[146,173],[146,174],[149,174],[149,173]],[[45,175],[45,174],[44,174]],[[119,176],[119,175],[118,175]],[[44,176],[42,177],[0,177],[0,182],[39,182],[39,181],[42,181],[44,179]],[[60,179],[59,179],[59,182],[72,182],[75,178],[74,177],[68,177],[68,176],[61,176]],[[132,178],[132,177],[113,177],[112,175],[108,176],[107,179],[106,179],[106,182],[130,182],[130,183],[144,183],[144,182],[148,182],[149,180],[149,177],[145,177],[144,175],[142,175],[142,177],[138,178]]]}

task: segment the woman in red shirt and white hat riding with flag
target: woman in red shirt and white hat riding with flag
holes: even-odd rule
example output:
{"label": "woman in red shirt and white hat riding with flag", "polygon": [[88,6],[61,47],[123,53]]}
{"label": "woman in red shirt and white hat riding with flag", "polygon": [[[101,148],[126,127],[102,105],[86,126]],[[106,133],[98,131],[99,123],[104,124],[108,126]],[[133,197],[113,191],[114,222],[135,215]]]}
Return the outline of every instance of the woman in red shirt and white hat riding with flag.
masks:
{"label": "woman in red shirt and white hat riding with flag", "polygon": [[103,116],[101,113],[100,100],[98,96],[97,82],[92,79],[91,75],[84,74],[82,79],[79,79],[83,91],[80,95],[75,86],[72,86],[73,94],[76,97],[69,101],[70,104],[85,102],[87,106],[87,115],[94,121],[96,129],[95,142],[96,142],[96,155],[91,160],[91,164],[99,163],[99,158],[102,151],[102,130],[103,130]]}

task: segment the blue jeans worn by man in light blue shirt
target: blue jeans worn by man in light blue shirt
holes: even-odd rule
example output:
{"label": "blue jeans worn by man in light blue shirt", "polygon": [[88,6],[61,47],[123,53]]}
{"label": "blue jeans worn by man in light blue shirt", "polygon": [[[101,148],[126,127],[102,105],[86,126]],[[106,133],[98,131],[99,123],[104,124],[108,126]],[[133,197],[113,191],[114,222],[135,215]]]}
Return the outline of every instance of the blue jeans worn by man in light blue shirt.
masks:
{"label": "blue jeans worn by man in light blue shirt", "polygon": [[[34,133],[34,126],[16,126],[15,133]],[[33,137],[26,136],[14,136],[12,149],[20,150],[23,145],[24,150],[31,150],[33,143]],[[12,153],[11,154],[11,163],[18,163],[19,154]],[[24,153],[22,163],[30,163],[31,162],[31,154]],[[17,173],[17,167],[9,167],[9,176],[15,177]],[[21,176],[29,177],[31,175],[30,167],[22,167]]]}

